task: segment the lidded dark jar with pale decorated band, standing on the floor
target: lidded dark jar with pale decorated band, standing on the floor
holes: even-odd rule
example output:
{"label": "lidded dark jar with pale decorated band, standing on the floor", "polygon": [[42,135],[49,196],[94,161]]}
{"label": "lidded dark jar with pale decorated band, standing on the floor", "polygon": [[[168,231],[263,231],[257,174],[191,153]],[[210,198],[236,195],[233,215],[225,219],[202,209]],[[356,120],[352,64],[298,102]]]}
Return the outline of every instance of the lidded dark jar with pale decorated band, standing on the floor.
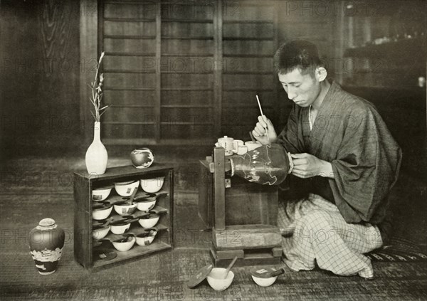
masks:
{"label": "lidded dark jar with pale decorated band, standing on the floor", "polygon": [[44,218],[30,231],[30,253],[38,273],[55,273],[62,255],[65,233],[52,218]]}

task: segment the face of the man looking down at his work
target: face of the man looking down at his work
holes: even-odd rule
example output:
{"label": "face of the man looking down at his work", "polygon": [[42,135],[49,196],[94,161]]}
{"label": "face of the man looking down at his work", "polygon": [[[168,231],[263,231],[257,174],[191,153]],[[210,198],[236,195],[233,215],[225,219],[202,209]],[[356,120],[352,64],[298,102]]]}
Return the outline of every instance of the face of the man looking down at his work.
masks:
{"label": "face of the man looking down at his work", "polygon": [[320,93],[320,83],[315,75],[301,74],[299,68],[290,73],[280,74],[279,80],[290,100],[300,107],[309,107]]}

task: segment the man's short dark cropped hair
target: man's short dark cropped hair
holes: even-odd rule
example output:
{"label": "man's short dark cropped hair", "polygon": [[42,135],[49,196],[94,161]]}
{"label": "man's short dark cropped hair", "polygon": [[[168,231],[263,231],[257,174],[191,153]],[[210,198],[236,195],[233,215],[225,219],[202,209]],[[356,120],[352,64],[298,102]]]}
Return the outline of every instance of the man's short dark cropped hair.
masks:
{"label": "man's short dark cropped hair", "polygon": [[304,40],[294,40],[282,44],[276,51],[274,58],[276,73],[290,73],[299,68],[302,74],[313,73],[322,65],[319,52],[315,44]]}

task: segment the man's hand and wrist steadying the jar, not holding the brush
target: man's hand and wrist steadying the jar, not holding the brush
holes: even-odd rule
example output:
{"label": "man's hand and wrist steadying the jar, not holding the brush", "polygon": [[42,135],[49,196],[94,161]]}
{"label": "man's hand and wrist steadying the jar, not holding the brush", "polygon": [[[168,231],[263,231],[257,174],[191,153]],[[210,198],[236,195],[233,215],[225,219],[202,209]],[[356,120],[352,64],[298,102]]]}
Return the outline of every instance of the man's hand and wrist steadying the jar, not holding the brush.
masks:
{"label": "man's hand and wrist steadying the jar, not holding the brush", "polygon": [[321,160],[312,154],[291,154],[292,162],[294,167],[292,174],[302,178],[311,178],[312,176],[325,176],[328,178],[334,178],[334,172],[332,171],[332,164]]}

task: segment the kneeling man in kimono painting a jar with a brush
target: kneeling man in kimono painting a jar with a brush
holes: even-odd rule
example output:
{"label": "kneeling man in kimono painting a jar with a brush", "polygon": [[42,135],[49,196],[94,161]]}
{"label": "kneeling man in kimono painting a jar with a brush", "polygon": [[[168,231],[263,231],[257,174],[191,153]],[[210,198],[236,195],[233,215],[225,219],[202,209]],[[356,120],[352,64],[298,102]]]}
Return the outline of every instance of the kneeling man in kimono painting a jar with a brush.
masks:
{"label": "kneeling man in kimono painting a jar with a brush", "polygon": [[283,44],[274,64],[295,104],[279,135],[260,116],[253,136],[290,152],[297,177],[291,182],[305,192],[280,207],[285,263],[296,271],[311,270],[316,261],[337,275],[372,278],[363,254],[386,239],[387,196],[399,174],[401,149],[374,105],[327,79],[314,44]]}

